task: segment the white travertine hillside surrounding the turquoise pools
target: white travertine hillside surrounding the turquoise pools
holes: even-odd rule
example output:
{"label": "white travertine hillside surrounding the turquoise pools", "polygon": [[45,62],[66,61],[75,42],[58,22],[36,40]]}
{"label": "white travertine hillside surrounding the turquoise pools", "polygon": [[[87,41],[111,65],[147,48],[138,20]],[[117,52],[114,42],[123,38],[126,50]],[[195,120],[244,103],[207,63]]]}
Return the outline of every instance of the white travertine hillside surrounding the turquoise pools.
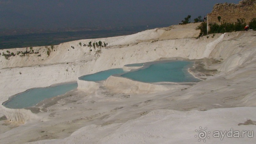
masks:
{"label": "white travertine hillside surrounding the turquoise pools", "polygon": [[[224,129],[234,125],[238,130],[248,128],[246,126],[238,127],[237,124],[247,119],[256,121],[252,116],[255,115],[255,108],[244,108],[256,106],[254,87],[256,84],[256,32],[233,32],[216,34],[214,36],[209,35],[208,38],[204,36],[196,39],[194,37],[199,35],[199,31],[195,30],[195,27],[195,24],[191,24],[187,26],[173,26],[171,29],[146,30],[129,36],[78,40],[62,43],[54,46],[53,49],[50,46],[47,48],[33,47],[34,52],[39,53],[26,54],[25,56],[10,56],[9,60],[5,59],[4,56],[0,56],[0,87],[2,88],[0,101],[2,102],[8,100],[8,97],[11,95],[30,88],[77,81],[78,77],[82,75],[107,69],[122,68],[126,64],[174,57],[191,60],[206,57],[221,61],[207,67],[208,69],[217,69],[220,73],[208,76],[207,80],[198,82],[193,86],[177,85],[173,89],[164,86],[152,86],[152,88],[149,88],[148,85],[140,84],[140,87],[135,87],[134,83],[136,82],[127,80],[127,87],[130,87],[128,92],[136,91],[138,93],[131,95],[128,99],[122,96],[119,97],[119,95],[123,94],[117,94],[118,96],[115,97],[114,94],[106,90],[109,87],[110,91],[112,89],[113,92],[123,93],[121,86],[118,85],[118,82],[121,82],[119,78],[110,77],[105,82],[106,87],[104,88],[99,88],[98,83],[94,85],[95,83],[90,84],[78,81],[84,87],[94,89],[93,92],[86,92],[88,89],[78,90],[76,96],[80,97],[77,103],[65,103],[62,100],[48,108],[47,112],[43,114],[31,113],[30,115],[28,112],[28,116],[24,116],[24,121],[28,118],[34,118],[37,121],[42,121],[40,126],[37,122],[33,123],[34,126],[29,126],[29,124],[19,126],[11,131],[0,134],[0,138],[2,138],[0,141],[14,142],[17,138],[12,136],[9,138],[8,135],[15,135],[19,131],[25,130],[24,134],[28,134],[28,131],[30,131],[30,134],[32,132],[35,133],[23,137],[23,140],[21,140],[21,143],[28,142],[32,137],[38,137],[36,135],[36,131],[40,131],[38,127],[46,128],[48,132],[55,135],[53,138],[62,139],[39,141],[38,143],[62,143],[73,140],[77,142],[86,141],[88,143],[112,143],[114,141],[122,143],[126,139],[131,143],[139,141],[145,143],[156,141],[168,143],[182,141],[181,137],[175,135],[177,131],[170,131],[168,133],[175,135],[170,141],[166,139],[164,132],[140,132],[135,135],[133,134],[136,129],[140,128],[145,128],[146,131],[149,131],[151,128],[161,131],[156,127],[165,127],[164,131],[177,129],[179,132],[181,130],[188,130],[190,132],[195,130],[191,130],[191,128],[197,128],[202,125],[217,127],[219,123],[223,124]],[[108,46],[102,48],[101,52],[96,54],[98,48],[91,48],[92,51],[90,51],[88,46],[83,46],[83,44],[88,44],[90,41],[102,41],[108,43]],[[82,46],[79,45],[80,42]],[[49,49],[51,52],[48,56],[47,50]],[[10,52],[14,53],[21,50],[24,52],[30,50],[30,48],[9,49]],[[3,52],[6,54],[6,49],[0,50],[1,54]],[[140,94],[140,92],[145,93],[148,90],[150,94]],[[110,94],[108,95],[108,93]],[[125,96],[128,97],[127,95]],[[194,109],[207,111],[190,111]],[[208,111],[208,109],[213,110]],[[142,114],[139,115],[136,111],[139,111],[137,113],[140,114],[143,113],[143,115],[148,114],[139,118]],[[236,115],[232,115],[233,112]],[[79,115],[76,113],[79,113]],[[217,115],[217,113],[220,115]],[[3,110],[0,111],[1,115],[4,115]],[[35,118],[34,115],[37,117]],[[187,115],[189,116],[186,117]],[[205,119],[200,119],[204,115],[206,115]],[[21,116],[12,117],[15,119]],[[170,121],[165,121],[167,117],[171,117]],[[181,120],[179,117],[184,117],[184,119]],[[235,119],[235,122],[230,122],[230,119],[227,117]],[[147,120],[148,125],[144,125],[143,121]],[[78,122],[76,123],[76,121]],[[85,122],[82,123],[81,121]],[[188,121],[190,123],[189,127],[185,124]],[[179,124],[175,125],[175,123]],[[225,125],[227,123],[228,125]],[[135,124],[137,124],[136,128],[134,127]],[[79,127],[76,127],[76,129],[69,128],[70,133],[64,134],[62,130],[68,129],[69,125],[79,125]],[[128,131],[124,132],[124,129],[128,129]],[[71,131],[75,132],[70,136]],[[82,136],[83,134],[86,136]],[[189,137],[183,140],[183,142],[194,139],[194,134],[191,135],[185,132],[182,134],[185,137]],[[94,135],[97,135],[97,138]],[[136,136],[134,141],[131,140],[133,136]],[[118,140],[120,137],[121,139]],[[33,141],[40,140],[40,138],[34,139]],[[232,139],[231,142],[233,141],[235,140]],[[248,139],[248,142],[250,141],[251,139]],[[214,142],[217,143],[218,141]]]}

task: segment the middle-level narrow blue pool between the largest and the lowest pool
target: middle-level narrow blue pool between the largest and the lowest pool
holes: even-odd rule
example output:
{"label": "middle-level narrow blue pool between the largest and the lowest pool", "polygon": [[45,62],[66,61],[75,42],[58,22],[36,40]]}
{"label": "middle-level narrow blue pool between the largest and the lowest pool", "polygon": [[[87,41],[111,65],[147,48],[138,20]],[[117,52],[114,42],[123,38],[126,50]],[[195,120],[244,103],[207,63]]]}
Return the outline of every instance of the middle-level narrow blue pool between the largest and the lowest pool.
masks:
{"label": "middle-level narrow blue pool between the largest and the lowest pool", "polygon": [[97,81],[103,81],[106,80],[110,75],[114,75],[114,74],[121,74],[121,73],[125,73],[126,71],[124,71],[123,69],[108,69],[108,70],[104,70],[104,71],[100,71],[94,74],[90,74],[90,75],[84,75],[79,77],[79,80],[84,80],[84,81],[93,81],[93,82],[97,82]]}

